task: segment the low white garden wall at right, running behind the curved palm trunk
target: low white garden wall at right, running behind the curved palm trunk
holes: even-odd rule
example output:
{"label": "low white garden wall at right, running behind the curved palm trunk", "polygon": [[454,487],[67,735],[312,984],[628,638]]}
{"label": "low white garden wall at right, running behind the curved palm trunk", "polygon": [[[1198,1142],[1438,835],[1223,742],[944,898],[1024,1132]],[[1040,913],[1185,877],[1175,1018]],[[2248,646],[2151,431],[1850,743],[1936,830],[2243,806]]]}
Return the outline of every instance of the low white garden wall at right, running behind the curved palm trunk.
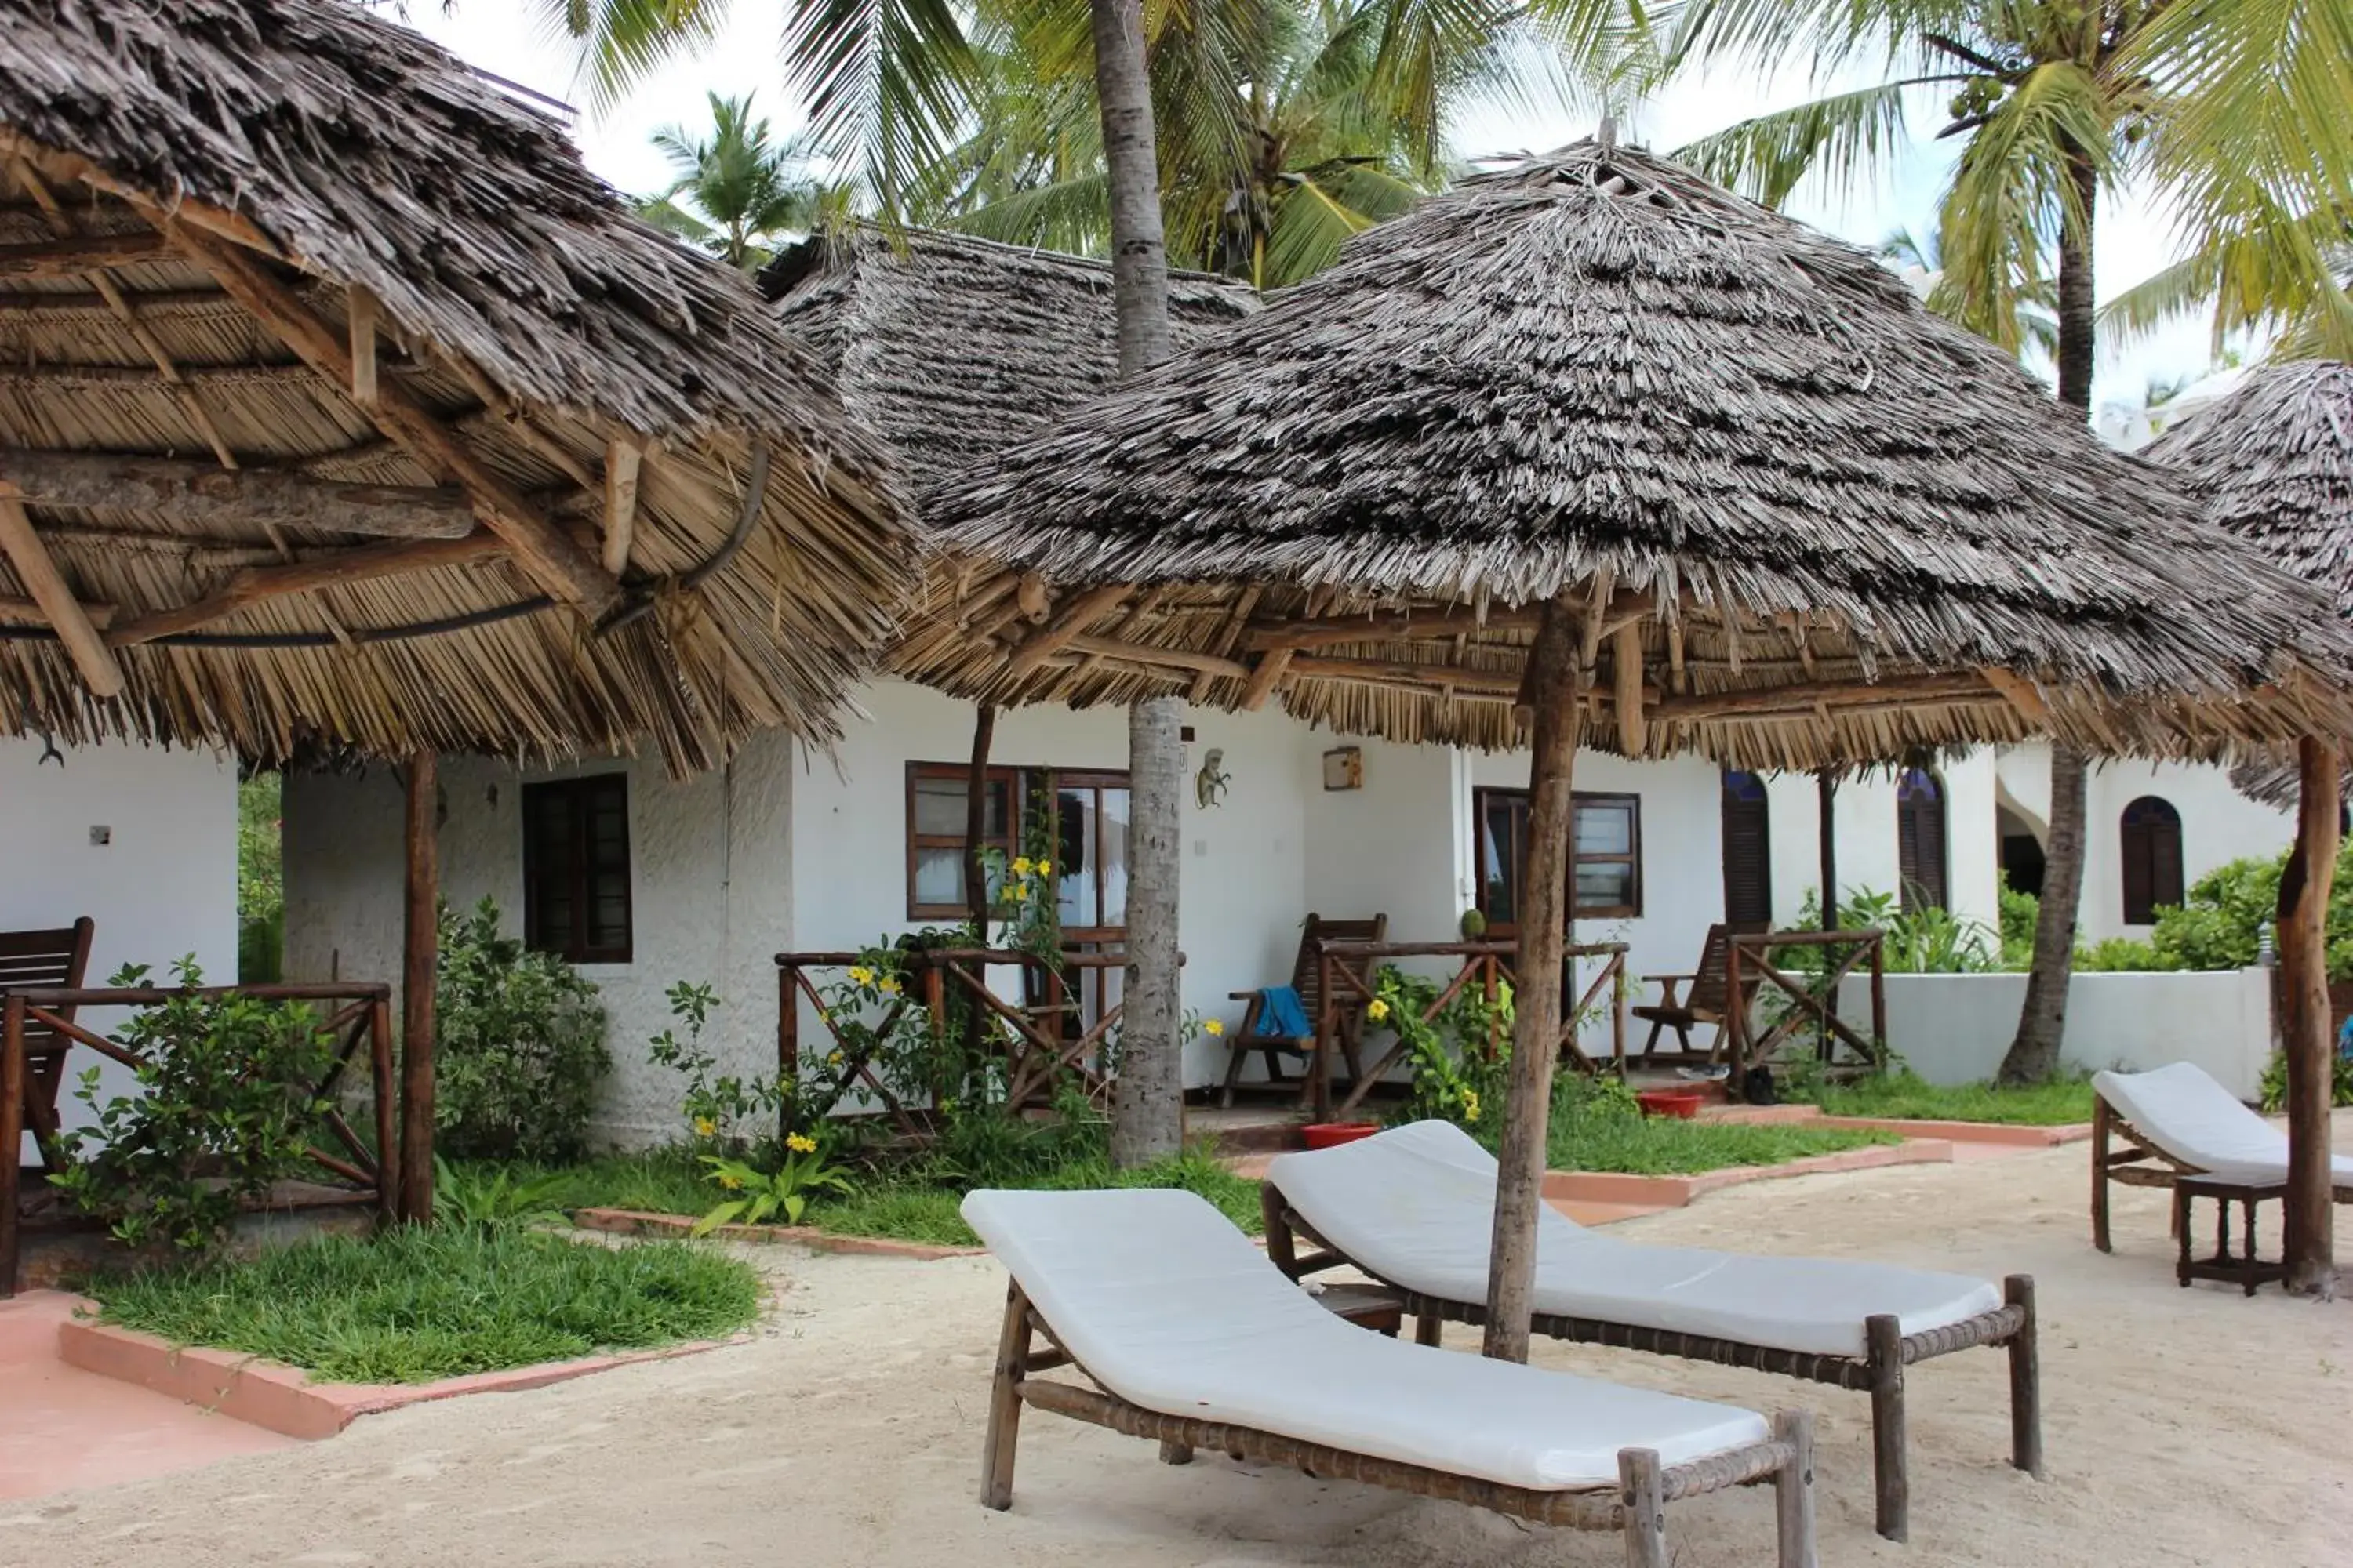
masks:
{"label": "low white garden wall at right, running behind the curved palm trunk", "polygon": [[[1887,976],[1887,1044],[1929,1084],[1974,1084],[2002,1065],[2026,976]],[[1838,1011],[1871,1020],[1871,983],[1849,978]],[[2141,1072],[2198,1063],[2254,1100],[2271,1056],[2271,971],[2075,976],[2061,1063]]]}

